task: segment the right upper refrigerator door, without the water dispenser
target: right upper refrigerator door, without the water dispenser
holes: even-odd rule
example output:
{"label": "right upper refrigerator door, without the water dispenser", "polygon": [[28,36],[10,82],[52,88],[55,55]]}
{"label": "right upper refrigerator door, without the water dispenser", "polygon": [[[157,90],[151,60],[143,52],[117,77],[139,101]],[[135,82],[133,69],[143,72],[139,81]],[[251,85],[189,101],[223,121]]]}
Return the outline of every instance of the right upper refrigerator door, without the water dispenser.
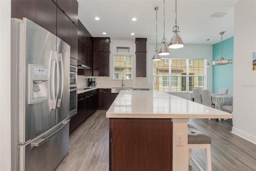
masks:
{"label": "right upper refrigerator door, without the water dispenser", "polygon": [[70,77],[70,46],[57,38],[57,58],[60,76],[56,123],[69,115],[69,77]]}

